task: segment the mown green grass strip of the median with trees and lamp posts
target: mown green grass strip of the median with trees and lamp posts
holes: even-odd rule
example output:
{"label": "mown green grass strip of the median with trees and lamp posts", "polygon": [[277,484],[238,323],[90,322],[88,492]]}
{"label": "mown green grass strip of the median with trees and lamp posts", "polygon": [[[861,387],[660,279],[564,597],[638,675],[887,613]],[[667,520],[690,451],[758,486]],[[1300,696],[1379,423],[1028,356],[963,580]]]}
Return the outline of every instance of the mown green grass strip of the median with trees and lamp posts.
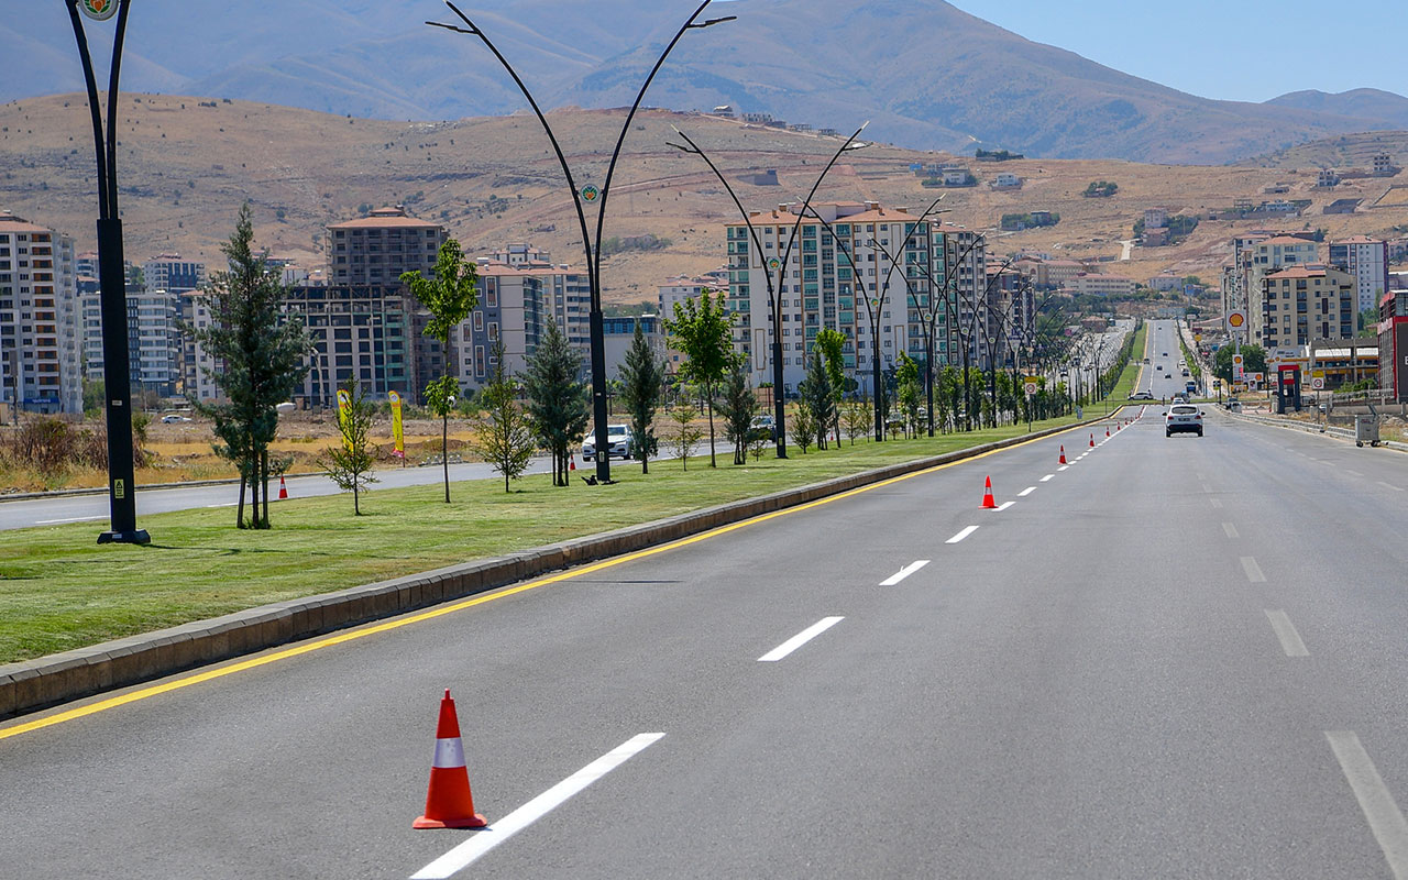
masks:
{"label": "mown green grass strip of the median with trees and lamp posts", "polygon": [[[1035,428],[1070,424],[1038,422]],[[149,546],[94,543],[101,524],[4,532],[0,541],[0,663],[70,650],[266,603],[328,593],[543,543],[648,522],[714,504],[804,486],[881,465],[977,446],[1026,432],[856,442],[734,466],[719,456],[618,466],[614,486],[553,489],[546,476],[373,490],[365,515],[348,496],[270,505],[273,528],[232,527],[234,508],[142,517]],[[974,486],[974,493],[980,490]],[[976,497],[974,497],[976,503]]]}

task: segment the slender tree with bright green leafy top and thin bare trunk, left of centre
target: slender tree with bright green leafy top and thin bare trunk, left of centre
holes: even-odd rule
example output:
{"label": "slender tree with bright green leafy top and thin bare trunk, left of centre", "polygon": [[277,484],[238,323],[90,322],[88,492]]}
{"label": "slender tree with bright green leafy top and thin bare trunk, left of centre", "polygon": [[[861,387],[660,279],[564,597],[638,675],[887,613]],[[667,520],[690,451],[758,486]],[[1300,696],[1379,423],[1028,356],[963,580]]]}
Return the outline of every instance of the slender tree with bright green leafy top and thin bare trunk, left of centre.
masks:
{"label": "slender tree with bright green leafy top and thin bare trunk, left of centre", "polygon": [[[403,272],[401,283],[411,289],[415,301],[431,313],[425,335],[441,344],[445,353],[445,369],[449,370],[449,334],[479,304],[479,268],[466,262],[459,242],[446,238],[435,255],[432,277],[424,277],[421,270]],[[445,469],[445,503],[449,504],[449,414],[459,394],[459,380],[446,372],[425,386],[425,406],[441,418],[441,463]]]}

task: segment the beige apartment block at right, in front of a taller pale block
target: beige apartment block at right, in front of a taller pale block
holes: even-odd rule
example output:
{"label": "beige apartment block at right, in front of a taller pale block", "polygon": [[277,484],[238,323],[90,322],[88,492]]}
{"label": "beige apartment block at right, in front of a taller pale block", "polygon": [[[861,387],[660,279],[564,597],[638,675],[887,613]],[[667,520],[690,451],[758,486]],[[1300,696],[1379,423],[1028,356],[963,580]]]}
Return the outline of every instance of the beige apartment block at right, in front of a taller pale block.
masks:
{"label": "beige apartment block at right, in front of a taller pale block", "polygon": [[[1293,266],[1262,280],[1260,334],[1267,349],[1352,339],[1356,332],[1354,276],[1326,266]],[[1249,315],[1250,317],[1250,315]]]}

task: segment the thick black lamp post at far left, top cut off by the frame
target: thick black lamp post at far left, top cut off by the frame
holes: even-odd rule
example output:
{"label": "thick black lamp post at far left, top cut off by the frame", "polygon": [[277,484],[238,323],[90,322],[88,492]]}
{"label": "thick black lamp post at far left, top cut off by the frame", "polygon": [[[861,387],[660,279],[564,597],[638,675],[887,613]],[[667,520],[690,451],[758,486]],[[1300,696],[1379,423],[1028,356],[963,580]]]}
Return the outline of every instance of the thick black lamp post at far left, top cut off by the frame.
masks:
{"label": "thick black lamp post at far left, top cut off by the frame", "polygon": [[[103,308],[103,387],[107,397],[107,498],[111,528],[99,543],[151,543],[137,528],[137,483],[132,467],[132,389],[127,344],[127,277],[122,270],[122,220],[117,210],[117,79],[122,63],[122,38],[131,0],[65,0],[73,21],[73,38],[83,62],[83,82],[93,117],[93,146],[97,152],[97,259]],[[107,131],[99,111],[97,77],[89,55],[87,35],[79,8],[89,18],[106,21],[117,15],[113,66],[107,79]]]}

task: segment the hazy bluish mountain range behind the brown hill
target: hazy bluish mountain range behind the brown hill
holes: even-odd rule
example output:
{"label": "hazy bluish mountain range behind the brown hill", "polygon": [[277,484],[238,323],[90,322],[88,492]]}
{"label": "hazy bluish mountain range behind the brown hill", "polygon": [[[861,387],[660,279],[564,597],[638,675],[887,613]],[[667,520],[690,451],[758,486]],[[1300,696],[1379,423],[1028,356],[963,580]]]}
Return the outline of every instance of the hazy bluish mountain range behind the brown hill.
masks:
{"label": "hazy bluish mountain range behind the brown hill", "polygon": [[[213,94],[338,115],[446,120],[524,108],[513,82],[431,0],[135,4],[134,92]],[[465,8],[465,7],[462,7]],[[693,0],[480,0],[470,13],[543,107],[628,104]],[[1329,135],[1408,127],[1408,99],[1359,90],[1214,101],[1032,42],[943,0],[729,0],[686,34],[646,103],[734,104],[922,149],[1217,165]],[[0,25],[0,100],[82,87],[62,4]],[[99,38],[101,49],[107,31]]]}

